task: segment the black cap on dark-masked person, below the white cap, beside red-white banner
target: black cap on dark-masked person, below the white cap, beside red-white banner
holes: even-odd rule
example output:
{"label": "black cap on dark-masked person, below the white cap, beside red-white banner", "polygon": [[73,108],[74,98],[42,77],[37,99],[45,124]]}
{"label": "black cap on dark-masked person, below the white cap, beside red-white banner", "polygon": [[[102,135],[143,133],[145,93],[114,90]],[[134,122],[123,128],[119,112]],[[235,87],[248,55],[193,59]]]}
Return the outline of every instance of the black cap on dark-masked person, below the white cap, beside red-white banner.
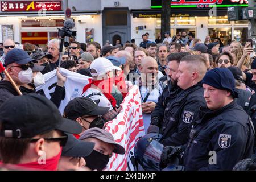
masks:
{"label": "black cap on dark-masked person, below the white cap, beside red-white banner", "polygon": [[104,115],[108,113],[109,107],[100,107],[97,105],[99,100],[93,101],[86,97],[77,97],[68,102],[64,109],[65,117],[76,119],[83,115]]}

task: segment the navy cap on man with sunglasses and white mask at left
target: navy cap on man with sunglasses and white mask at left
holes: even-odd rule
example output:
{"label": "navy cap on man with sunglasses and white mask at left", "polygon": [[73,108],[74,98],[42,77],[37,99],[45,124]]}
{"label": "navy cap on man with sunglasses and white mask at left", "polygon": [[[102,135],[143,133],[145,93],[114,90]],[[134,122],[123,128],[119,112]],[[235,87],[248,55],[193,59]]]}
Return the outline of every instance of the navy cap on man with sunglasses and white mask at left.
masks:
{"label": "navy cap on man with sunglasses and white mask at left", "polygon": [[28,53],[22,49],[12,49],[5,56],[5,66],[11,63],[27,64],[30,62],[38,63],[38,61],[32,59]]}

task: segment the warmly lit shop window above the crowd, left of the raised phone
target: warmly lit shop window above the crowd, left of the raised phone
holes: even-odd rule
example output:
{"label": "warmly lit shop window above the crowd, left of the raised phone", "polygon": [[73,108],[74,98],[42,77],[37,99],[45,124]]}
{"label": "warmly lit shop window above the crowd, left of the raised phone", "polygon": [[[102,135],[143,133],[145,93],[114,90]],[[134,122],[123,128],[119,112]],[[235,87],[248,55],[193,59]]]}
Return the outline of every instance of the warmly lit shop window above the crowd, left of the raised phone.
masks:
{"label": "warmly lit shop window above the crowd, left of the raised phone", "polygon": [[214,38],[220,38],[222,43],[226,45],[231,40],[231,28],[208,28],[209,36],[214,40]]}

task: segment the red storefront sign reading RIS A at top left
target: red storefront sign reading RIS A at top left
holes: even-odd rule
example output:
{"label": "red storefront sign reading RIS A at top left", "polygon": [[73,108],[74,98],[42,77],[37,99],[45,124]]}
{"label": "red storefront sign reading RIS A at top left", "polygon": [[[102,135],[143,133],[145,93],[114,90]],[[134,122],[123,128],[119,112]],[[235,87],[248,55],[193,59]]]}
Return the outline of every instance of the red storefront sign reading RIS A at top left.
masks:
{"label": "red storefront sign reading RIS A at top left", "polygon": [[61,1],[1,1],[2,12],[61,11]]}

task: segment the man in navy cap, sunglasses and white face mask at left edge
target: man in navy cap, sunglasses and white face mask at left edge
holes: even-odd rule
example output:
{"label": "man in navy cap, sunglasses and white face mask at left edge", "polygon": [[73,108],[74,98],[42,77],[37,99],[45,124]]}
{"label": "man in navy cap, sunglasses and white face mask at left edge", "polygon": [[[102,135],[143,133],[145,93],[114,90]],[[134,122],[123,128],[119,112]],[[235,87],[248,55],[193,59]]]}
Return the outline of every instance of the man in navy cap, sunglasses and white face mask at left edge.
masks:
{"label": "man in navy cap, sunglasses and white face mask at left edge", "polygon": [[[6,71],[15,82],[18,88],[23,84],[29,84],[32,81],[32,68],[36,60],[31,59],[28,53],[22,49],[10,50],[5,56]],[[9,78],[5,77],[0,82],[0,105],[9,98],[18,96],[18,92],[14,89]]]}

